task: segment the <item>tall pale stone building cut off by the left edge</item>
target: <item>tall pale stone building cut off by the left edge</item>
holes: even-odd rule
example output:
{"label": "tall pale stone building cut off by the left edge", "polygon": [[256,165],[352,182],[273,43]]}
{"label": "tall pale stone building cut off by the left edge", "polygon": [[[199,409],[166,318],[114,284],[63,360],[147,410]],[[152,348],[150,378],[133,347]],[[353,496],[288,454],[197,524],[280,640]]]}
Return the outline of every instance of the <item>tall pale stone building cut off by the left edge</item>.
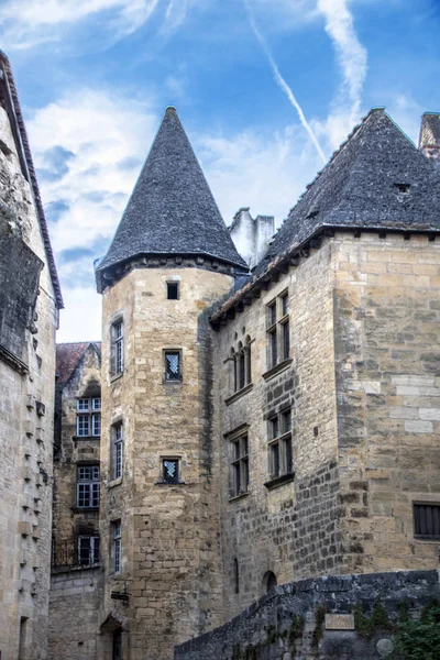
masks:
{"label": "tall pale stone building cut off by the left edge", "polygon": [[46,658],[55,330],[63,307],[31,151],[0,52],[0,656]]}

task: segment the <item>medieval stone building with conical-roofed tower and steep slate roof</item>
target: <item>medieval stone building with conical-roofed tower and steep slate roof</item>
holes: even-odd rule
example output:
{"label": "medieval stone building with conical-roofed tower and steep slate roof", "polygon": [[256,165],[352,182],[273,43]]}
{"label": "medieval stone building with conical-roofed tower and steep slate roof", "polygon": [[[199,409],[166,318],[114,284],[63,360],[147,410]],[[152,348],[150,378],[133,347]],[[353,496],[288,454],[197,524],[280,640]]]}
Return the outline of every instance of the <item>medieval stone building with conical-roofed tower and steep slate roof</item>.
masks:
{"label": "medieval stone building with conical-roofed tower and steep slate roof", "polygon": [[[271,242],[245,208],[228,233],[167,109],[96,271],[101,569],[58,584],[53,658],[165,660],[276,584],[438,566],[439,127],[417,150],[372,110]],[[63,389],[63,538],[87,536],[98,460],[75,426],[87,351]]]}

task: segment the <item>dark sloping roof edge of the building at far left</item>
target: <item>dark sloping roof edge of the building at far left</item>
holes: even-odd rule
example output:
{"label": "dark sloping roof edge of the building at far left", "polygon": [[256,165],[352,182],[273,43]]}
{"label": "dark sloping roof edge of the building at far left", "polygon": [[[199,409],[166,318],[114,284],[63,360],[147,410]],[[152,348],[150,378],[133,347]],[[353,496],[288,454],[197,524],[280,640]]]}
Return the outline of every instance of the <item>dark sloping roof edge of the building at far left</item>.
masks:
{"label": "dark sloping roof edge of the building at far left", "polygon": [[48,270],[51,273],[52,285],[54,287],[55,300],[57,309],[63,309],[63,296],[59,286],[58,274],[56,272],[54,253],[52,251],[51,239],[48,235],[46,217],[44,215],[43,202],[40,196],[38,184],[34,164],[32,161],[31,147],[29,145],[28,133],[24,127],[23,114],[20,107],[19,95],[15,87],[15,81],[12,75],[11,65],[7,55],[0,51],[0,98],[2,98],[11,122],[12,132],[15,139],[16,148],[19,152],[20,164],[23,176],[31,186],[32,195],[35,202],[36,217],[38,219],[40,229],[43,237],[44,249]]}

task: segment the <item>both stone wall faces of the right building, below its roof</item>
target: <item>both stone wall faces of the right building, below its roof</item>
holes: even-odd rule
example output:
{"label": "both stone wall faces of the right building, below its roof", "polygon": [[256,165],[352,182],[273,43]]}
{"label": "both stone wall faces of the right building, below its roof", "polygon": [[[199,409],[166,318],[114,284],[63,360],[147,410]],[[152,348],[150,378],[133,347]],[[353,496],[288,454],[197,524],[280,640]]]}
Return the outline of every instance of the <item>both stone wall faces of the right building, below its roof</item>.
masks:
{"label": "both stone wall faces of the right building, below its roof", "polygon": [[[437,566],[438,539],[415,539],[414,503],[440,504],[439,355],[432,349],[439,268],[439,246],[428,237],[337,233],[219,329],[229,614],[263,593],[267,571],[284,583]],[[283,292],[290,355],[271,371],[266,310]],[[252,339],[252,385],[231,396],[228,355],[244,334]],[[295,476],[274,487],[267,419],[290,406]],[[250,484],[230,497],[229,437],[243,425]]]}

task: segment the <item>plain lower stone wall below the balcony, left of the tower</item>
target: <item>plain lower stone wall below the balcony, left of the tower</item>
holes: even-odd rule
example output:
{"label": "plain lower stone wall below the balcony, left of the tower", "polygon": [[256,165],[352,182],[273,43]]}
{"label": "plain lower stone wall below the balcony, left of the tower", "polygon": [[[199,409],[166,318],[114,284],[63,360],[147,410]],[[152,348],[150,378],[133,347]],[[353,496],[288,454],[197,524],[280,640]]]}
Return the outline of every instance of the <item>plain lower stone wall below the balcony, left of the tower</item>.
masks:
{"label": "plain lower stone wall below the balcony, left of the tower", "polygon": [[52,573],[47,660],[98,658],[101,598],[100,568]]}

